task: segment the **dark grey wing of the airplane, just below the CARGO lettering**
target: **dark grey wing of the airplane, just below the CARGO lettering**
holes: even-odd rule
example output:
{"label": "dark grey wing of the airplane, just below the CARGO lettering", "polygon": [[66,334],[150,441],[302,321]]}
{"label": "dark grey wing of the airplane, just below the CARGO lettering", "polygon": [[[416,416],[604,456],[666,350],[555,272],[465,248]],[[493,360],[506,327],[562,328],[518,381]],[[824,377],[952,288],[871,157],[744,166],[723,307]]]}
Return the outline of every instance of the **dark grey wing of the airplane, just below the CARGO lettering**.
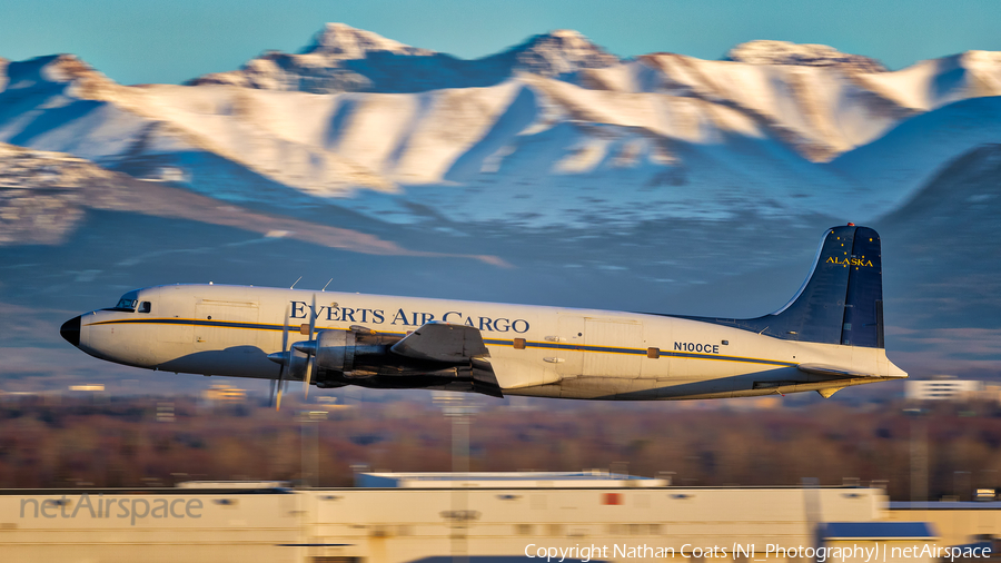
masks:
{"label": "dark grey wing of the airplane, just below the CARGO lettering", "polygon": [[489,355],[476,328],[434,320],[408,334],[389,349],[415,359],[449,363]]}

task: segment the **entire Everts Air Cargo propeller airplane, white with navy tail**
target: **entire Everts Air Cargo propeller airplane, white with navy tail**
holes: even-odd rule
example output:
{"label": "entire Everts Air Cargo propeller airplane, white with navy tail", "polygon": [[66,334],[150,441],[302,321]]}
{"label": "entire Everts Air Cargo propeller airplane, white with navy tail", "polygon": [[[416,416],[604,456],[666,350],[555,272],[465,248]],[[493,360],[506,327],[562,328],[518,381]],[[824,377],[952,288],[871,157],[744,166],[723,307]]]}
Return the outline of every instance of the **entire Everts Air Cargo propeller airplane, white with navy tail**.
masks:
{"label": "entire Everts Air Cargo propeller airplane, white with navy tail", "polygon": [[906,377],[883,347],[879,235],[824,233],[806,280],[756,318],[502,305],[252,286],[168,285],[62,325],[100,359],[321,388],[701,399]]}

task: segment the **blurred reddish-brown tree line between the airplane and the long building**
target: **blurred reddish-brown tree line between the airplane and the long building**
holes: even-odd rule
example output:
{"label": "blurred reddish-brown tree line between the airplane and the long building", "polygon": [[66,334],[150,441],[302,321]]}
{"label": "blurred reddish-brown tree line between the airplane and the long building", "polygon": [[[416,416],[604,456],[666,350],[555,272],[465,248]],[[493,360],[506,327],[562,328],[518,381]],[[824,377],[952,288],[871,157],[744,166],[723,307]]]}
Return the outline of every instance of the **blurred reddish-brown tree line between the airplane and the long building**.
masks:
{"label": "blurred reddish-brown tree line between the airplane and the long building", "polygon": [[[796,485],[816,477],[824,485],[880,483],[894,500],[911,498],[914,475],[928,476],[930,498],[969,500],[977,487],[1001,487],[997,403],[830,402],[749,411],[527,405],[487,404],[472,417],[473,471],[670,472],[680,486]],[[315,411],[313,422],[301,422],[304,409]],[[255,402],[189,397],[27,398],[0,403],[0,487],[296,481],[303,424],[317,429],[321,485],[350,485],[359,465],[452,468],[452,423],[426,402],[333,409],[289,402],[276,413]]]}

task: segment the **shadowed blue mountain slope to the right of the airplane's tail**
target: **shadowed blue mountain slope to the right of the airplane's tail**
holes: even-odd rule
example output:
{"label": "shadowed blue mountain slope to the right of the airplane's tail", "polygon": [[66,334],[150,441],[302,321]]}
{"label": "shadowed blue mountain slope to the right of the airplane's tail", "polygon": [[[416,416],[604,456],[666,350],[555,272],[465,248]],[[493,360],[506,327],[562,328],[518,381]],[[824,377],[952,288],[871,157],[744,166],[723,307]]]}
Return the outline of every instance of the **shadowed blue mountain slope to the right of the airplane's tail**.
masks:
{"label": "shadowed blue mountain slope to the right of the airplane's tail", "polygon": [[1001,145],[980,146],[878,224],[884,283],[898,288],[892,337],[943,371],[997,372],[1001,359],[999,178]]}

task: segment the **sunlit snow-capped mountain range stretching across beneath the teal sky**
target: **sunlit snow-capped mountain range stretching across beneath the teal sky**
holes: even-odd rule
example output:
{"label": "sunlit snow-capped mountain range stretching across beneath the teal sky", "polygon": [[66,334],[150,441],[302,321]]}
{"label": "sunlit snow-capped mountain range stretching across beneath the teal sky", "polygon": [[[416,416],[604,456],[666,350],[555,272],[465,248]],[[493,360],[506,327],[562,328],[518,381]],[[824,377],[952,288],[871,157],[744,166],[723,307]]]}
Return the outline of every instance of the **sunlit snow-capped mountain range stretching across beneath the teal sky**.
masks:
{"label": "sunlit snow-capped mountain range stretching across beneath the teal sky", "polygon": [[120,86],[71,56],[11,62],[0,141],[238,203],[538,227],[596,209],[624,224],[737,210],[862,220],[999,140],[1001,53],[886,71],[753,41],[729,59],[620,60],[555,31],[460,60],[333,23],[300,53],[189,86]]}

